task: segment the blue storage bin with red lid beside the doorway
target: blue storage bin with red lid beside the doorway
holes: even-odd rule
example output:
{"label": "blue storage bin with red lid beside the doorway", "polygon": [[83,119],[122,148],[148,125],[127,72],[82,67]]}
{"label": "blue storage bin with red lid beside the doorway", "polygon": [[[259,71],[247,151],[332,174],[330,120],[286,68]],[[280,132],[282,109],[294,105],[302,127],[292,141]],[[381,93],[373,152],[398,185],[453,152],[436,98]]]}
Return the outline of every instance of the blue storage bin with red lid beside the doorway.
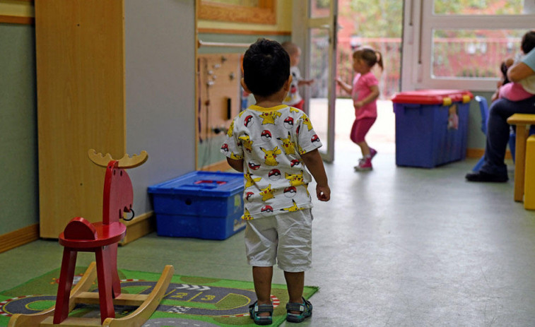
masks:
{"label": "blue storage bin with red lid beside the doorway", "polygon": [[473,97],[466,90],[416,90],[394,95],[396,165],[433,168],[464,160]]}

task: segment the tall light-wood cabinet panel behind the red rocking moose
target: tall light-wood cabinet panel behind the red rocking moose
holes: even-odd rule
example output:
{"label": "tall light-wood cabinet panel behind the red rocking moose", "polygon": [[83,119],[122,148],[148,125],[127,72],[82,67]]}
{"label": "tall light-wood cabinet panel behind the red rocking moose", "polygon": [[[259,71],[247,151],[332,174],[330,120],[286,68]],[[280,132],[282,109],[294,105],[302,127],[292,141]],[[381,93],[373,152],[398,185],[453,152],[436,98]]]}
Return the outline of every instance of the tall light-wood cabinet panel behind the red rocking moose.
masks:
{"label": "tall light-wood cabinet panel behind the red rocking moose", "polygon": [[35,1],[40,237],[102,220],[105,170],[88,149],[126,152],[124,3]]}

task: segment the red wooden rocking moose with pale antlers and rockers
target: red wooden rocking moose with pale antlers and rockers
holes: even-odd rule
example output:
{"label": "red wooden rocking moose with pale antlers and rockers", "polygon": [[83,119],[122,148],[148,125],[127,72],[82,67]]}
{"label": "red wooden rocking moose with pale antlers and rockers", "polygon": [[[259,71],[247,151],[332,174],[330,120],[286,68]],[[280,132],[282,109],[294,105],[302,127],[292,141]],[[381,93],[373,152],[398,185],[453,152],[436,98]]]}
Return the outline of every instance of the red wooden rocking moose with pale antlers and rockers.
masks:
{"label": "red wooden rocking moose with pale antlers and rockers", "polygon": [[[89,150],[88,155],[96,165],[106,167],[102,222],[91,223],[76,217],[66,225],[64,232],[59,234],[59,244],[64,246],[64,252],[56,305],[37,314],[15,314],[8,326],[142,326],[165,295],[174,273],[172,266],[165,266],[149,295],[122,294],[117,273],[117,244],[127,232],[120,219],[123,213],[132,213],[134,217],[134,192],[125,169],[142,165],[148,159],[147,153],[142,151],[132,157],[124,155],[120,160],[113,160],[110,154],[102,156],[95,150]],[[71,290],[78,251],[95,252],[96,263],[90,264]],[[88,292],[95,278],[98,279],[98,293]],[[69,317],[69,312],[78,303],[99,304],[100,319]],[[115,319],[114,304],[138,308],[128,316]]]}

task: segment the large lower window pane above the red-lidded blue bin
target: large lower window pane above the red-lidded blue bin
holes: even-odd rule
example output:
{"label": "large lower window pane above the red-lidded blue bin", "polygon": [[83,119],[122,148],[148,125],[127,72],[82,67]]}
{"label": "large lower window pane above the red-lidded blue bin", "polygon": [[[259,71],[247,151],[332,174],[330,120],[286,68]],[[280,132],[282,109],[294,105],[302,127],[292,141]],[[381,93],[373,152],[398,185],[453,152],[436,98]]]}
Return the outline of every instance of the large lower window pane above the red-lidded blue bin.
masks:
{"label": "large lower window pane above the red-lidded blue bin", "polygon": [[526,30],[433,30],[433,77],[496,78],[507,57],[522,54]]}

